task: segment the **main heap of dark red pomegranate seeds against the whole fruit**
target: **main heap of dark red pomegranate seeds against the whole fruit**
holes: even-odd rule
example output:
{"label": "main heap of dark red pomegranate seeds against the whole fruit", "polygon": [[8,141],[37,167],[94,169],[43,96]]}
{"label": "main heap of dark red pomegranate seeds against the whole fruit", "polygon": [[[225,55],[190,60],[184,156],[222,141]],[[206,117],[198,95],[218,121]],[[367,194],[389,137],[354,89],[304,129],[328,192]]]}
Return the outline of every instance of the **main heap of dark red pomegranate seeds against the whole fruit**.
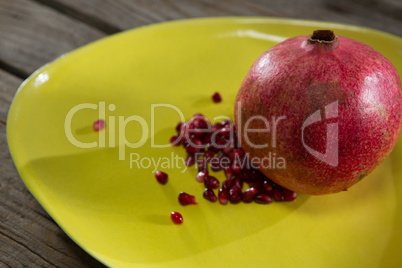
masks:
{"label": "main heap of dark red pomegranate seeds against the whole fruit", "polygon": [[[212,125],[205,116],[198,113],[187,123],[179,122],[176,132],[170,143],[185,148],[187,167],[196,165],[198,173],[195,179],[204,184],[203,197],[206,200],[219,200],[220,204],[225,205],[229,202],[269,204],[272,201],[296,199],[297,193],[275,184],[251,165],[238,145],[231,120]],[[226,180],[220,183],[209,174],[210,170],[224,172]],[[214,190],[217,190],[217,194]]]}

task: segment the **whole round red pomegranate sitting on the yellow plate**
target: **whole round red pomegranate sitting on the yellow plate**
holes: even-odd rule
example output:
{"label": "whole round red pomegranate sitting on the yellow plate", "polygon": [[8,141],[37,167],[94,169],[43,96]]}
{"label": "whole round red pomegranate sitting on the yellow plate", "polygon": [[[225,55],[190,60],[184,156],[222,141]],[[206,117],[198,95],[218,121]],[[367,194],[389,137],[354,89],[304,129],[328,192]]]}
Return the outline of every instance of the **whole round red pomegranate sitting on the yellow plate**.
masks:
{"label": "whole round red pomegranate sitting on the yellow plate", "polygon": [[[254,62],[236,98],[235,123],[251,159],[275,153],[285,160],[285,168],[260,167],[262,173],[292,191],[321,195],[348,189],[392,151],[402,126],[401,80],[392,63],[366,44],[342,36],[331,42],[310,37],[287,39]],[[325,106],[331,103],[336,117],[326,118]],[[321,121],[303,130],[318,110]],[[251,144],[245,124],[256,115],[268,120],[270,131],[247,132]],[[286,116],[277,121],[276,131],[273,116]],[[336,165],[313,156],[302,142],[303,130],[304,143],[325,154],[330,123],[337,125],[338,135],[331,137],[328,150],[337,152],[327,160]],[[264,128],[262,120],[248,125]]]}

